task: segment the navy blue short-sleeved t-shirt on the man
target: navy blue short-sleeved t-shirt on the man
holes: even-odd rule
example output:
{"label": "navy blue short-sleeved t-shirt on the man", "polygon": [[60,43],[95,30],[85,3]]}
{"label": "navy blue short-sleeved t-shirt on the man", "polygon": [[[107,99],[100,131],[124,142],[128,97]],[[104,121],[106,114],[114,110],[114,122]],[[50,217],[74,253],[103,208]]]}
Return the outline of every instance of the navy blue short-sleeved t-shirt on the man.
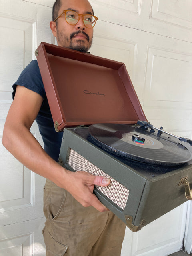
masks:
{"label": "navy blue short-sleeved t-shirt on the man", "polygon": [[24,86],[42,96],[43,103],[36,117],[36,122],[43,138],[44,150],[55,161],[58,161],[63,132],[55,131],[37,60],[32,60],[13,84],[13,98],[17,85]]}

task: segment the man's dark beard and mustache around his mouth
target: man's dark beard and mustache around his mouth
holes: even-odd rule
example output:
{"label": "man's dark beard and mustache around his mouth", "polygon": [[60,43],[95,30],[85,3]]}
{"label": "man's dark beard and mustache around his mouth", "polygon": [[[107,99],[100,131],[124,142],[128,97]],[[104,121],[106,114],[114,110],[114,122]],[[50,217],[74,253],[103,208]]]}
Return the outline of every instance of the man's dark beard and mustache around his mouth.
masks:
{"label": "man's dark beard and mustache around his mouth", "polygon": [[[79,33],[82,33],[86,36],[86,41],[80,40],[80,39],[73,40],[73,37]],[[64,35],[64,33],[62,31],[60,31],[57,34],[57,41],[60,42],[60,44],[63,47],[66,47],[66,48],[69,48],[72,50],[77,50],[79,52],[88,52],[88,50],[90,49],[90,47],[92,45],[92,38],[90,39],[88,34],[86,34],[84,31],[80,31],[80,30],[70,34],[69,37]]]}

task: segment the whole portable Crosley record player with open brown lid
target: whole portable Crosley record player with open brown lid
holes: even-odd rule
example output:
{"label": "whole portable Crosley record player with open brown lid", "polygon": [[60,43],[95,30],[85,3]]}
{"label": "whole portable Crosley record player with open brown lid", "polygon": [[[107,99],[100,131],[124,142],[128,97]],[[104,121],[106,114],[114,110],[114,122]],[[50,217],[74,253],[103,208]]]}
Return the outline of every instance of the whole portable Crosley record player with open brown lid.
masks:
{"label": "whole portable Crosley record player with open brown lid", "polygon": [[64,131],[59,163],[110,178],[94,193],[128,228],[192,200],[192,141],[147,121],[124,63],[43,42],[36,58]]}

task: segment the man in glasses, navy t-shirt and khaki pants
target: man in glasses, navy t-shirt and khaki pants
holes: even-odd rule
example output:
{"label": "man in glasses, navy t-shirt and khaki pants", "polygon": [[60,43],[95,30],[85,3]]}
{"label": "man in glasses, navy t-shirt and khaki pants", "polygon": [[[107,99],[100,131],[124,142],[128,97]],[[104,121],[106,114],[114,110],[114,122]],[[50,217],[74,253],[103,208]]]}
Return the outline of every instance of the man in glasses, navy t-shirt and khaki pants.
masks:
{"label": "man in glasses, navy t-shirt and khaki pants", "polygon": [[[88,0],[56,0],[50,28],[58,46],[87,52],[96,19]],[[27,168],[47,179],[43,230],[46,256],[120,255],[125,224],[93,194],[94,185],[108,186],[110,180],[87,172],[70,172],[57,163],[62,133],[54,131],[36,60],[24,69],[13,88],[3,144]],[[34,120],[44,150],[30,133]]]}

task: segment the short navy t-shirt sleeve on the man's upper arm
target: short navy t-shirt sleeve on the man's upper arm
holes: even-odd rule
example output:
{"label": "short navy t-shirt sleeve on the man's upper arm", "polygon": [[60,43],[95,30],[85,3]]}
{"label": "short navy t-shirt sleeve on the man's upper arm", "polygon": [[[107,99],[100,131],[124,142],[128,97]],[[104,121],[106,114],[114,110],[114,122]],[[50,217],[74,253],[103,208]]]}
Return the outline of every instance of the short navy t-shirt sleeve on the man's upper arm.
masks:
{"label": "short navy t-shirt sleeve on the man's upper arm", "polygon": [[33,92],[37,92],[43,98],[45,96],[45,89],[43,86],[39,66],[37,60],[32,60],[26,68],[20,74],[18,80],[13,84],[13,93],[12,97],[14,99],[16,86],[24,86]]}

